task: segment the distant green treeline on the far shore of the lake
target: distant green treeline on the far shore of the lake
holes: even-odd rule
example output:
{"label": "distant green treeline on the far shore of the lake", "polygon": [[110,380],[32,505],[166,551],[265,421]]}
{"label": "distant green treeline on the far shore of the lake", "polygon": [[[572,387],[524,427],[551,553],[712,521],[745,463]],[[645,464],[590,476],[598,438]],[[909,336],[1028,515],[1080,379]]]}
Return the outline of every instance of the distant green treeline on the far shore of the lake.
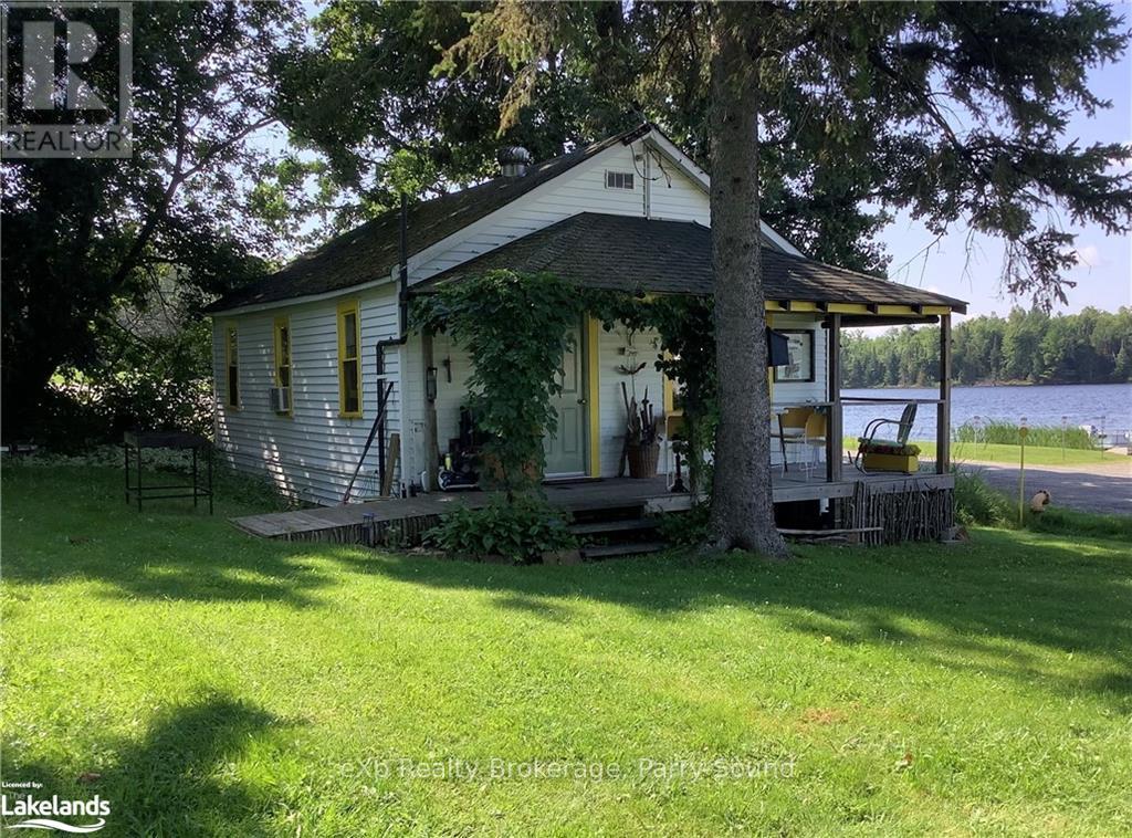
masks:
{"label": "distant green treeline on the far shore of the lake", "polygon": [[[1132,308],[1050,317],[1013,309],[952,328],[959,384],[1112,384],[1132,380]],[[846,387],[920,387],[938,380],[940,327],[902,326],[842,336]]]}

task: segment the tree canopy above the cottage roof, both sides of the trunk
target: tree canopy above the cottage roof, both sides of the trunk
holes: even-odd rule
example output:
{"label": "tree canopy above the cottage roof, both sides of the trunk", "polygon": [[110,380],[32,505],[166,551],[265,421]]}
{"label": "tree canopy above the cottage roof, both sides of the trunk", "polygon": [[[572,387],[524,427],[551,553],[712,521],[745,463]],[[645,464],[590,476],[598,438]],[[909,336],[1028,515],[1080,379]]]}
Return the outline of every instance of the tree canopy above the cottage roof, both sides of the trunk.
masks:
{"label": "tree canopy above the cottage roof, both sides of the trunk", "polygon": [[[883,273],[904,210],[942,236],[1001,237],[1012,294],[1064,301],[1065,224],[1129,229],[1120,144],[1063,136],[1106,108],[1091,67],[1124,22],[1096,2],[774,3],[762,61],[762,215],[814,258]],[[501,142],[535,159],[652,119],[701,161],[707,3],[340,2],[288,74],[286,118],[323,151],[340,224],[488,177]],[[349,106],[343,106],[349,103]],[[500,116],[503,117],[501,130]]]}

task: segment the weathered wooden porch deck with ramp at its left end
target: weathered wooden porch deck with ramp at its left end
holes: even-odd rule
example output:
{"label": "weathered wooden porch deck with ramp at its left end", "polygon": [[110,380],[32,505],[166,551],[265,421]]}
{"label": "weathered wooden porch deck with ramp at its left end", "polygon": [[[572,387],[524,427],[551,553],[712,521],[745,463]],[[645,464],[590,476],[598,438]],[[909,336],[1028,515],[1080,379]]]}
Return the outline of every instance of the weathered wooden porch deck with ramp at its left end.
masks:
{"label": "weathered wooden porch deck with ramp at its left end", "polygon": [[[844,477],[838,482],[825,482],[816,476],[806,480],[801,476],[777,473],[773,484],[774,503],[848,498],[859,482],[866,482],[873,494],[954,488],[951,474],[852,472]],[[619,507],[644,507],[650,512],[663,512],[686,510],[691,505],[687,494],[668,491],[667,478],[663,477],[650,480],[611,478],[555,482],[546,486],[546,493],[551,504],[567,512]],[[232,519],[232,523],[261,538],[372,544],[376,533],[385,532],[391,525],[398,527],[406,538],[412,539],[455,505],[479,507],[487,504],[491,496],[488,491],[435,491],[418,497],[385,498],[348,506],[247,515]]]}

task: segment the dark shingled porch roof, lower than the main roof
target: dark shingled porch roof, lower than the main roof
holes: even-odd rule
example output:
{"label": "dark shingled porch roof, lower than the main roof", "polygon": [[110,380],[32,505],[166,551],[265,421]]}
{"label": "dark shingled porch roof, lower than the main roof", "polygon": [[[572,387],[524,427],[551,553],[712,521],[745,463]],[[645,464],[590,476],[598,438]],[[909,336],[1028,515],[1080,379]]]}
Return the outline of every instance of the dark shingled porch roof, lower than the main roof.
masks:
{"label": "dark shingled porch roof, lower than the main roof", "polygon": [[[412,287],[415,293],[494,268],[548,271],[586,288],[645,293],[712,292],[711,229],[685,221],[581,213],[489,250]],[[967,303],[763,247],[767,300],[902,306]]]}

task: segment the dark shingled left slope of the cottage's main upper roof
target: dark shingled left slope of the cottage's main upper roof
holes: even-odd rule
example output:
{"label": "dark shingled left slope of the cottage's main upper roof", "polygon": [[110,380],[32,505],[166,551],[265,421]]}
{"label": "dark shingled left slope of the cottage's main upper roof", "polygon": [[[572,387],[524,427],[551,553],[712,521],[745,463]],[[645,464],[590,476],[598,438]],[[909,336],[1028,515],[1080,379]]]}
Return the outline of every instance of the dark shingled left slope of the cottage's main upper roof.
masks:
{"label": "dark shingled left slope of the cottage's main upper roof", "polygon": [[[409,207],[409,255],[452,236],[606,148],[632,142],[650,128],[648,125],[638,126],[569,154],[535,163],[521,178],[496,178]],[[384,279],[400,263],[400,250],[401,213],[391,210],[300,256],[282,271],[224,294],[205,310],[215,313],[277,302]]]}

